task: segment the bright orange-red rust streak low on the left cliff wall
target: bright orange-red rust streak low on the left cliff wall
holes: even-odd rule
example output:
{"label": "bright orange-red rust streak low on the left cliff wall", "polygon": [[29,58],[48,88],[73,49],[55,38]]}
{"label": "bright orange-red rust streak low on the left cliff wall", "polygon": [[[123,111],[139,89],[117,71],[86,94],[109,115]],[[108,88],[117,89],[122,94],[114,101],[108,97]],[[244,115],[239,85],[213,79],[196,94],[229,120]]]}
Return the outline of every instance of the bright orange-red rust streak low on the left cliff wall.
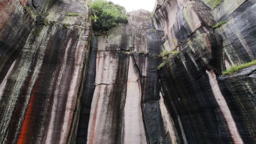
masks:
{"label": "bright orange-red rust streak low on the left cliff wall", "polygon": [[28,130],[28,127],[29,127],[29,122],[32,118],[32,111],[33,111],[33,105],[34,105],[36,90],[37,90],[37,83],[33,87],[33,91],[32,91],[32,94],[31,94],[30,101],[29,101],[29,105],[28,105],[27,110],[26,110],[26,116],[25,116],[23,124],[22,124],[22,128],[21,128],[21,131],[20,131],[20,135],[19,135],[17,144],[26,144],[26,139],[27,139],[27,136],[28,136],[28,134],[27,134],[28,131],[27,130]]}

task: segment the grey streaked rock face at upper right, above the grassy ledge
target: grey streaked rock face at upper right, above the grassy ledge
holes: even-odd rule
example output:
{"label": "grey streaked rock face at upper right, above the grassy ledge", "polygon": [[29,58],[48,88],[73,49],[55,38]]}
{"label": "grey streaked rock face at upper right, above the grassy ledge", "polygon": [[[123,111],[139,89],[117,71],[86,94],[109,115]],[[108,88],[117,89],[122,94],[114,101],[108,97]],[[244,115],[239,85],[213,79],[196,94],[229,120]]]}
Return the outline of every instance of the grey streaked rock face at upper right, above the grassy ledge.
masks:
{"label": "grey streaked rock face at upper right, above the grassy ledge", "polygon": [[[225,7],[225,1],[219,7]],[[243,1],[243,0],[241,0]],[[226,12],[217,22],[226,20],[227,23],[216,30],[223,38],[223,51],[226,66],[250,62],[256,57],[255,29],[255,0],[235,2],[234,11]],[[222,11],[220,11],[222,12]],[[214,14],[213,14],[214,15]]]}

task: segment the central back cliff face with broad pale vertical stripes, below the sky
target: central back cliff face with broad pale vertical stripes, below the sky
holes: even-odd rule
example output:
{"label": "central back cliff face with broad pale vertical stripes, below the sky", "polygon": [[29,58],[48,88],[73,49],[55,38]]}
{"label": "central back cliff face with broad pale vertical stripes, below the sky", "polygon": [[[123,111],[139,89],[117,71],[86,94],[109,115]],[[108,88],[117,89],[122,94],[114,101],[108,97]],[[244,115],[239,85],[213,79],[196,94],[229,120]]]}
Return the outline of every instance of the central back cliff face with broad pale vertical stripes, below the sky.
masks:
{"label": "central back cliff face with broad pale vertical stripes, below the sky", "polygon": [[[128,24],[94,37],[77,143],[179,142],[159,96],[157,54],[162,32],[152,29],[150,16],[144,10],[130,12]],[[90,70],[91,66],[96,69]]]}

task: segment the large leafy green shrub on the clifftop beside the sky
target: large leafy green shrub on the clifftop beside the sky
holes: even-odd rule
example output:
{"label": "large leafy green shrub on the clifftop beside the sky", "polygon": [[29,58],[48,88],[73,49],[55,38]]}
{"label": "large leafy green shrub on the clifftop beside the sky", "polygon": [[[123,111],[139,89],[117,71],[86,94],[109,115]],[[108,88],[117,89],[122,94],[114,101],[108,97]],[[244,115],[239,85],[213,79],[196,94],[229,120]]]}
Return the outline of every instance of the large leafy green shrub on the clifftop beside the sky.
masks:
{"label": "large leafy green shrub on the clifftop beside the sky", "polygon": [[125,7],[105,0],[94,0],[90,5],[92,10],[92,28],[95,31],[108,31],[119,23],[127,23]]}

